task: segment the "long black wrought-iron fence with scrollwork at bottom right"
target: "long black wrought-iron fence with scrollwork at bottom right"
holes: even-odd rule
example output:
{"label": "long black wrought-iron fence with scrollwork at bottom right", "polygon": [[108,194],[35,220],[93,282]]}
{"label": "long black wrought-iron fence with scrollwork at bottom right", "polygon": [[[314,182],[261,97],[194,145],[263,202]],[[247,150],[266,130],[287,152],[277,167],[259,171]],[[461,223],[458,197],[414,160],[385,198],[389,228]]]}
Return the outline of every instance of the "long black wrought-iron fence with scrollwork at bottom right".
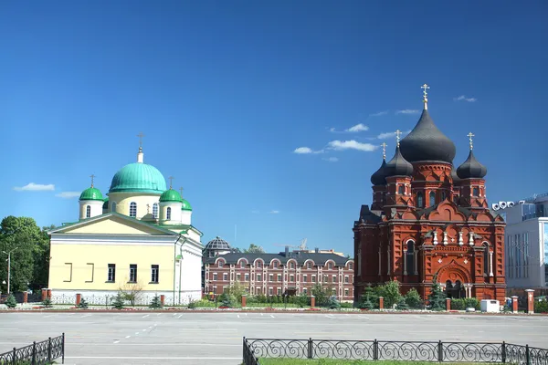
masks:
{"label": "long black wrought-iron fence with scrollwork at bottom right", "polygon": [[548,349],[506,342],[244,338],[244,364],[258,365],[261,358],[509,362],[548,365]]}

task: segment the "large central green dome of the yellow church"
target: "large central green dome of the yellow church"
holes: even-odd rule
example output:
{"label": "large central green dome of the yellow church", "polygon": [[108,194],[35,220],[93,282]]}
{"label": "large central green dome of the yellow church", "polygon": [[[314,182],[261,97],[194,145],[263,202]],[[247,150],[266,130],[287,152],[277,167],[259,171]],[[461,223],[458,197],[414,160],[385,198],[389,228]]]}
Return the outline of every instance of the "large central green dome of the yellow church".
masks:
{"label": "large central green dome of the yellow church", "polygon": [[134,162],[116,172],[109,193],[163,193],[166,190],[162,172],[146,163]]}

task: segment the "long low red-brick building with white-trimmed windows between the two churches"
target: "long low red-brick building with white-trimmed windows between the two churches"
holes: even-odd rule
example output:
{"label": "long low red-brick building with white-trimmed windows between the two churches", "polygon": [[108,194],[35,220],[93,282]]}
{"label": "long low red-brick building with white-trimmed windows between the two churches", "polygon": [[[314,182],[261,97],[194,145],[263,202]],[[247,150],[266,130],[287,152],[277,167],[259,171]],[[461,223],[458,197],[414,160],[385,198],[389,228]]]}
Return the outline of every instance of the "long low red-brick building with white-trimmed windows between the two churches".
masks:
{"label": "long low red-brick building with white-trimmed windows between the two churches", "polygon": [[[342,301],[353,300],[353,260],[341,255],[302,251],[279,254],[240,254],[219,244],[220,238],[205,245],[204,294],[222,294],[226,287],[240,283],[251,295],[311,295],[311,287],[321,283],[332,287]],[[222,247],[211,252],[208,247]]]}

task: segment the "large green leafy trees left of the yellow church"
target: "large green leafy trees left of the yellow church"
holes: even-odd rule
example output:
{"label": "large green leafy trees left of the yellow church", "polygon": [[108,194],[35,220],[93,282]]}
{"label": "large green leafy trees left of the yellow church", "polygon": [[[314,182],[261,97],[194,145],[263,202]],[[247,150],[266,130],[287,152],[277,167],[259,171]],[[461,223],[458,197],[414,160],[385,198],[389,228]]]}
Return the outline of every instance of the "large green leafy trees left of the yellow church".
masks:
{"label": "large green leafy trees left of the yellow church", "polygon": [[[12,253],[12,292],[26,291],[28,287],[47,287],[48,246],[47,235],[40,230],[34,219],[10,215],[2,220],[0,249]],[[7,277],[7,266],[0,266],[0,277]],[[6,289],[2,287],[2,291]]]}

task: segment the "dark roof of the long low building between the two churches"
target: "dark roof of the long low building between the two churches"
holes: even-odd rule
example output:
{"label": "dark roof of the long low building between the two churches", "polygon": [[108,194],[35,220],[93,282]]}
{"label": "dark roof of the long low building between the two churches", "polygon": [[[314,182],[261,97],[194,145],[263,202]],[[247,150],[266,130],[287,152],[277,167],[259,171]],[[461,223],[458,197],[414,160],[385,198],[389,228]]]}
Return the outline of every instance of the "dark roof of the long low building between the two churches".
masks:
{"label": "dark roof of the long low building between the two churches", "polygon": [[216,262],[217,258],[224,258],[227,261],[227,264],[237,264],[240,258],[246,258],[248,260],[248,263],[253,263],[256,259],[262,258],[265,263],[270,263],[273,259],[277,258],[279,259],[279,262],[281,262],[282,265],[287,264],[287,262],[290,260],[290,258],[294,258],[297,260],[297,263],[299,265],[304,264],[306,260],[311,259],[314,264],[318,265],[321,263],[321,265],[325,264],[325,262],[329,259],[332,259],[335,262],[335,266],[344,266],[348,262],[348,258],[341,256],[341,255],[335,255],[335,254],[316,254],[316,253],[296,253],[296,252],[290,252],[289,256],[285,255],[285,252],[280,252],[279,254],[225,254],[225,255],[218,255],[216,257],[207,257],[205,259],[206,264],[213,264]]}

